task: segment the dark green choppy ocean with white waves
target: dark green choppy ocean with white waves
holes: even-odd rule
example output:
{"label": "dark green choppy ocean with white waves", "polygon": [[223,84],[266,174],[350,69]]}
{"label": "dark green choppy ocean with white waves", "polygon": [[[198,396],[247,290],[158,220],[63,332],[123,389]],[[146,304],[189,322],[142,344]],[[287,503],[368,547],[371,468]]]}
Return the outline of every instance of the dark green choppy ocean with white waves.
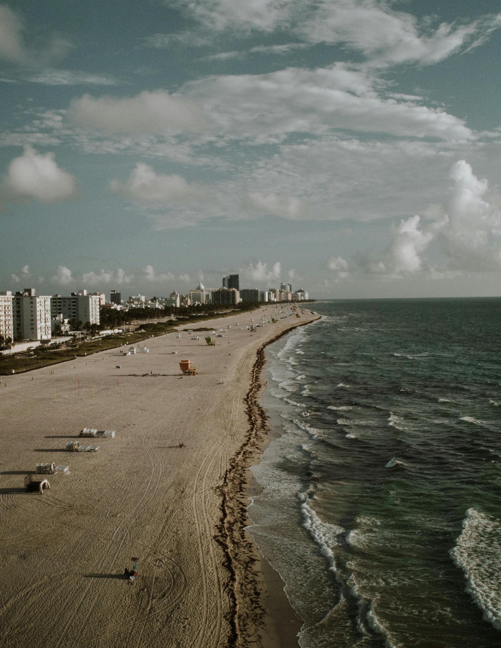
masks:
{"label": "dark green choppy ocean with white waves", "polygon": [[310,307],[266,349],[248,508],[299,645],[498,647],[501,299]]}

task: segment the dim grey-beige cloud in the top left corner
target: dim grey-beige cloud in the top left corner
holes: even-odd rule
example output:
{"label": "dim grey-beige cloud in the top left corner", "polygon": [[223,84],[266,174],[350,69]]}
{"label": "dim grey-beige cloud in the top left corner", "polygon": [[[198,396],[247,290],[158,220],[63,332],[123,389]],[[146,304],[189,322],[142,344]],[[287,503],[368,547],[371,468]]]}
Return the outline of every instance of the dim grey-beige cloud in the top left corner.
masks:
{"label": "dim grey-beige cloud in the top left corner", "polygon": [[45,47],[34,49],[25,44],[23,19],[6,5],[0,5],[0,58],[25,67],[43,67],[49,60],[62,58],[71,45],[52,35]]}

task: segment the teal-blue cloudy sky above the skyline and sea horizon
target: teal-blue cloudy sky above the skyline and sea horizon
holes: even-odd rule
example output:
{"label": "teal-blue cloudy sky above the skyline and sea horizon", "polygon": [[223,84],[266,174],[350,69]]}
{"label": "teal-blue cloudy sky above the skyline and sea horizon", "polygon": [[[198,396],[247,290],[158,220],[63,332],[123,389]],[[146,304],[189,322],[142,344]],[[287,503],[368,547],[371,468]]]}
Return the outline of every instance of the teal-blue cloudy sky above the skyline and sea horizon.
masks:
{"label": "teal-blue cloudy sky above the skyline and sea horizon", "polygon": [[0,290],[501,295],[495,0],[0,3]]}

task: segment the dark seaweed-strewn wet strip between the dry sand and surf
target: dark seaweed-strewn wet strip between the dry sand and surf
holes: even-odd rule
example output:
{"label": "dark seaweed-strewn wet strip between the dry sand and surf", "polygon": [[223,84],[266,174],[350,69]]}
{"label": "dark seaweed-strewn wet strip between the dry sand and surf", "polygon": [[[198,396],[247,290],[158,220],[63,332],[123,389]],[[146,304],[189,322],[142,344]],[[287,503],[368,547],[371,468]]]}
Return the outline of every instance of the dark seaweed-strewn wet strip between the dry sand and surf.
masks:
{"label": "dark seaweed-strewn wet strip between the dry sand and surf", "polygon": [[[256,351],[250,387],[244,398],[249,428],[239,450],[230,459],[220,487],[221,520],[217,539],[224,550],[226,567],[231,574],[231,611],[234,619],[229,641],[231,646],[257,643],[266,648],[286,647],[293,636],[297,644],[296,634],[303,623],[283,591],[284,583],[279,574],[261,555],[245,527],[252,524],[247,515],[250,494],[259,492],[250,467],[259,463],[264,447],[272,440],[268,415],[261,404],[264,390],[261,376],[266,365],[264,350],[292,330],[318,319],[321,317],[315,316],[307,322],[288,327],[264,341]],[[289,625],[278,618],[285,612],[289,618],[293,617]]]}

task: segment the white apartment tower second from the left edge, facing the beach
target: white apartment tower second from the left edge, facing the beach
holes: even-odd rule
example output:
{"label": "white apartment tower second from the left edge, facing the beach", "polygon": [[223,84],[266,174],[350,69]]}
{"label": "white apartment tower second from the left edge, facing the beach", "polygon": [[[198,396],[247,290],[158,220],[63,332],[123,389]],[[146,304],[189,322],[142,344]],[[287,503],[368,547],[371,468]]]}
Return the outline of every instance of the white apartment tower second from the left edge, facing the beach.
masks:
{"label": "white apartment tower second from the left edge, facing the beach", "polygon": [[12,320],[15,340],[51,339],[51,297],[36,295],[25,288],[12,298]]}

